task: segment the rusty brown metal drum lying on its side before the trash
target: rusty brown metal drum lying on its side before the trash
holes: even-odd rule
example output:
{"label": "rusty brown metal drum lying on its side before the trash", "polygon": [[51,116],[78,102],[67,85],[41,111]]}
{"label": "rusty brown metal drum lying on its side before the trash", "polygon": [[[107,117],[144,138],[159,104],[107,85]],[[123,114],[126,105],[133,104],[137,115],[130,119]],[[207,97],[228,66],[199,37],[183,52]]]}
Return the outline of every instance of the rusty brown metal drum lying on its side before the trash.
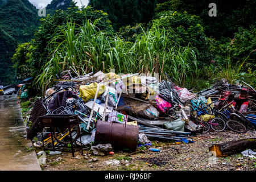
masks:
{"label": "rusty brown metal drum lying on its side before the trash", "polygon": [[96,144],[112,144],[113,148],[129,148],[135,151],[138,144],[139,127],[121,123],[98,121],[96,125]]}

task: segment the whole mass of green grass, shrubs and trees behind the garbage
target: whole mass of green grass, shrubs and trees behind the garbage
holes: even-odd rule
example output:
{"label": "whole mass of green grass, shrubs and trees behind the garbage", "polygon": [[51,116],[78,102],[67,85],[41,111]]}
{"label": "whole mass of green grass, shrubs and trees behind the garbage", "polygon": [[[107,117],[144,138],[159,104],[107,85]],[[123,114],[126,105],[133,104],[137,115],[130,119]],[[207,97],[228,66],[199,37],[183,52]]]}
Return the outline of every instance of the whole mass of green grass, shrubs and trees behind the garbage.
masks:
{"label": "whole mass of green grass, shrubs and trees behind the garbage", "polygon": [[[221,78],[256,85],[255,1],[218,0],[216,17],[208,15],[208,0],[90,0],[82,9],[65,2],[60,9],[69,8],[41,19],[34,38],[13,55],[18,78],[35,77],[42,93],[69,67],[161,78],[166,72],[194,92]],[[0,43],[10,44],[13,35],[1,24],[0,31]]]}

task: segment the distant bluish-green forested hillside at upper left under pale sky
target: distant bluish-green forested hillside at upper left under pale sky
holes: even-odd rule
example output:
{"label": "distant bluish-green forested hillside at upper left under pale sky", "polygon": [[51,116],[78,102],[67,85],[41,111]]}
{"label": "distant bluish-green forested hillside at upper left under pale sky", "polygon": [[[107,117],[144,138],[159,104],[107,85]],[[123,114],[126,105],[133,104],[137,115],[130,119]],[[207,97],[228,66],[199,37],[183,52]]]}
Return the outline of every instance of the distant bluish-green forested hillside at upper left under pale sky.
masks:
{"label": "distant bluish-green forested hillside at upper left under pale sky", "polygon": [[[53,0],[47,6],[47,14],[55,10],[67,10],[72,0]],[[17,80],[16,65],[11,57],[18,44],[30,42],[39,27],[38,10],[28,0],[0,0],[0,81],[4,85]],[[24,75],[26,76],[26,75]]]}

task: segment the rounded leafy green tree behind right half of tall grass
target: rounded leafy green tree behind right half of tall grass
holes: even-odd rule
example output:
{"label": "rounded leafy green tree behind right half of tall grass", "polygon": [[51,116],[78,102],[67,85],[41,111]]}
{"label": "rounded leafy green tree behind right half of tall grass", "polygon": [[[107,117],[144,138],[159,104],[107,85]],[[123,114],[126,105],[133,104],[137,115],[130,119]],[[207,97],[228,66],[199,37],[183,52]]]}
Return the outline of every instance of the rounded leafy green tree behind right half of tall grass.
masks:
{"label": "rounded leafy green tree behind right half of tall grass", "polygon": [[209,52],[208,38],[204,34],[204,27],[199,16],[190,15],[184,11],[162,11],[155,16],[153,22],[158,21],[161,26],[172,32],[175,42],[181,46],[189,43],[200,52],[199,61],[209,62],[212,55]]}

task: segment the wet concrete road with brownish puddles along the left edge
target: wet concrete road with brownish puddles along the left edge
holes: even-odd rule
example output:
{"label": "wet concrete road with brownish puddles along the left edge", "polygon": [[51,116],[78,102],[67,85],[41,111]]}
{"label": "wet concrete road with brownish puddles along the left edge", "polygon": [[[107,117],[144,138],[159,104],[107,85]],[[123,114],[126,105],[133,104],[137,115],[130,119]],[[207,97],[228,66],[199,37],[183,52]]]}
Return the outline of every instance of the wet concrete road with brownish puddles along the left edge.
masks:
{"label": "wet concrete road with brownish puddles along the left edge", "polygon": [[16,95],[0,96],[0,170],[41,170],[35,151],[26,150],[31,142],[25,135]]}

